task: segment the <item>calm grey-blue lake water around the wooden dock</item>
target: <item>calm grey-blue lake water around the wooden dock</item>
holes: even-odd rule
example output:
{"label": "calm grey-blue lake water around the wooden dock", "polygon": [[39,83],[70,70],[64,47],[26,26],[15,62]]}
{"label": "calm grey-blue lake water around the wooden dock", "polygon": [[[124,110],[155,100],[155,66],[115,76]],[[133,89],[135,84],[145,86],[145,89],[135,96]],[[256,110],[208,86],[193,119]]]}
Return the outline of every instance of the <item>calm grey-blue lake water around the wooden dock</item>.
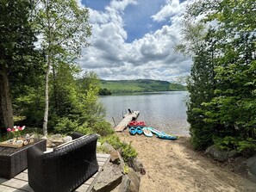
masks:
{"label": "calm grey-blue lake water around the wooden dock", "polygon": [[186,115],[186,91],[141,93],[130,96],[100,96],[107,109],[107,120],[114,127],[122,121],[128,108],[140,111],[137,120],[146,121],[147,127],[155,127],[166,133],[189,136]]}

